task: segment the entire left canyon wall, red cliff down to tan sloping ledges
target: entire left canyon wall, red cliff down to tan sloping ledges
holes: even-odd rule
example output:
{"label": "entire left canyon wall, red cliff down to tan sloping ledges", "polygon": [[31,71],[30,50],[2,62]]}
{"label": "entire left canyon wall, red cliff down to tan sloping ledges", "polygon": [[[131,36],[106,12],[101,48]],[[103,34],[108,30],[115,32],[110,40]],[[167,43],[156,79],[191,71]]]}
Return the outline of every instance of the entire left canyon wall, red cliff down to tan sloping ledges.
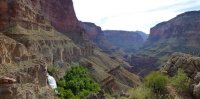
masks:
{"label": "entire left canyon wall, red cliff down to tan sloping ledges", "polygon": [[[56,98],[46,81],[51,64],[58,67],[58,78],[73,62],[90,66],[102,88],[109,89],[106,92],[126,90],[140,83],[137,75],[123,69],[125,63],[100,52],[88,40],[89,32],[77,20],[72,0],[1,0],[0,5],[1,76],[16,79],[11,87],[0,85],[9,90],[5,90],[9,97]],[[107,72],[118,66],[122,68],[116,72],[130,76],[129,82]],[[103,77],[113,80],[103,84]]]}

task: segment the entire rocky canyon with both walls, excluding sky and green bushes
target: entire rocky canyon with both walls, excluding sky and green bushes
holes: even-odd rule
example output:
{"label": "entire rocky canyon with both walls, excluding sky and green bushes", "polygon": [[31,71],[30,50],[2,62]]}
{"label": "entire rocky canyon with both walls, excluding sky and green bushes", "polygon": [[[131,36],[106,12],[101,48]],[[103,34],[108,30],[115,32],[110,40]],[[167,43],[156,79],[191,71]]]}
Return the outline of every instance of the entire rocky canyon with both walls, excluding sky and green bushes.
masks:
{"label": "entire rocky canyon with both walls, excluding sky and green bushes", "polygon": [[147,35],[81,22],[72,0],[1,0],[0,97],[57,99],[47,83],[48,68],[56,66],[59,80],[70,64],[79,63],[105,94],[136,87],[151,71],[173,76],[182,68],[198,99],[199,18],[200,11],[185,12]]}

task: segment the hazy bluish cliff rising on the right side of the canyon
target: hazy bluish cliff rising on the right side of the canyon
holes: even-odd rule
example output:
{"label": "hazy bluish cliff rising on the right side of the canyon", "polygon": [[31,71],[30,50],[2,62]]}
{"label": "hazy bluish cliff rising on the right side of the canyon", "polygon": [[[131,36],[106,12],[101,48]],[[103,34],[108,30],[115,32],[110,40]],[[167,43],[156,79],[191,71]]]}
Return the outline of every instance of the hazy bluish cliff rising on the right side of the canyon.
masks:
{"label": "hazy bluish cliff rising on the right side of the canyon", "polygon": [[185,12],[151,28],[144,51],[154,56],[171,52],[199,55],[200,11]]}

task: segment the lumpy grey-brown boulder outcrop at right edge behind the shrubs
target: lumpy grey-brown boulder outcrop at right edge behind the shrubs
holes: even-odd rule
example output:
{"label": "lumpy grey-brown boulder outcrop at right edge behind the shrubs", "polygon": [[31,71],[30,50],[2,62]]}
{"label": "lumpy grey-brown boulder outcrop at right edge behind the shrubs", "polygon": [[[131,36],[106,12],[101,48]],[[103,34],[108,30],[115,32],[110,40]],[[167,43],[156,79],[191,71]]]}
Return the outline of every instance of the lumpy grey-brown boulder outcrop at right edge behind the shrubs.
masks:
{"label": "lumpy grey-brown boulder outcrop at right edge behind the shrubs", "polygon": [[165,71],[168,75],[173,76],[178,69],[183,69],[193,83],[192,92],[195,99],[200,98],[200,57],[194,57],[188,54],[175,53],[162,67],[161,71]]}

